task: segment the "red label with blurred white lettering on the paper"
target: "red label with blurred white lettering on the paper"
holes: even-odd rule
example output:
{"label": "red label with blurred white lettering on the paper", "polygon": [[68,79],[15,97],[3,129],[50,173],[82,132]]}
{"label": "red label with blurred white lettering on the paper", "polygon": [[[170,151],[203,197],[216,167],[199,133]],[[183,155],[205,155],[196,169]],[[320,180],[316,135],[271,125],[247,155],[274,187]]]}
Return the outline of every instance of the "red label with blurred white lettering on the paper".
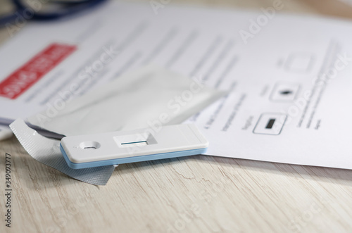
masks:
{"label": "red label with blurred white lettering on the paper", "polygon": [[73,45],[50,44],[0,82],[0,96],[16,99],[76,49]]}

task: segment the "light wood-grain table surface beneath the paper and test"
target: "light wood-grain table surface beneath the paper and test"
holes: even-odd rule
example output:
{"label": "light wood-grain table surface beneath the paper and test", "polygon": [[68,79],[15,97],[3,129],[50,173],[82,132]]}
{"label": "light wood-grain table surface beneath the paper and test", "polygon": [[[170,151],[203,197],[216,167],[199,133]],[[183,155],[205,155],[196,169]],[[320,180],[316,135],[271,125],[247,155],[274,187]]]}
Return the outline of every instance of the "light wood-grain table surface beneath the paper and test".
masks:
{"label": "light wood-grain table surface beneath the paper and test", "polygon": [[[272,4],[176,2],[255,10]],[[337,0],[283,2],[286,12],[352,18],[352,7]],[[0,42],[6,39],[0,30]],[[4,221],[6,153],[11,228]],[[14,137],[0,141],[0,155],[0,232],[352,232],[352,170],[194,156],[120,165],[98,187],[38,163]]]}

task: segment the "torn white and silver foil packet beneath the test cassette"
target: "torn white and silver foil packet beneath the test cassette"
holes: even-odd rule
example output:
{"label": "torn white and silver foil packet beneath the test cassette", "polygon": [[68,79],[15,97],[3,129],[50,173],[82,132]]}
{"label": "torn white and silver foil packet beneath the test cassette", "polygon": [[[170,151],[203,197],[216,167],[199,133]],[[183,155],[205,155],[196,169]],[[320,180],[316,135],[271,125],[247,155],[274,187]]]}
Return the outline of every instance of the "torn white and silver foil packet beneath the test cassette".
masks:
{"label": "torn white and silver foil packet beneath the test cassette", "polygon": [[[180,124],[223,94],[201,80],[149,65],[65,103],[54,116],[47,109],[27,121],[65,136],[156,128]],[[30,156],[77,180],[106,184],[115,168],[108,165],[74,170],[60,153],[60,141],[37,134],[21,120],[13,122],[11,129]]]}

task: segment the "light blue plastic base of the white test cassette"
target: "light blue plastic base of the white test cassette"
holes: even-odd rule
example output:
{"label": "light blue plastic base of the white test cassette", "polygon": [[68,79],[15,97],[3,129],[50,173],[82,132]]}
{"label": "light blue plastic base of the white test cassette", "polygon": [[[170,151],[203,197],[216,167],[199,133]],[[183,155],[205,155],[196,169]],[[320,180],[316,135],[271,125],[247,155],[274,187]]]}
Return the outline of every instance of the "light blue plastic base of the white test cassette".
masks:
{"label": "light blue plastic base of the white test cassette", "polygon": [[95,167],[101,167],[101,166],[106,166],[106,165],[118,165],[118,164],[122,164],[122,163],[136,163],[136,162],[149,161],[149,160],[158,160],[158,159],[163,159],[163,158],[177,158],[177,157],[182,157],[182,156],[195,156],[195,155],[199,155],[201,153],[206,153],[207,149],[208,148],[188,150],[188,151],[175,151],[175,152],[170,152],[170,153],[155,153],[155,154],[146,155],[146,156],[115,158],[115,159],[101,160],[101,161],[94,161],[94,162],[87,162],[87,163],[73,163],[70,161],[70,159],[68,158],[68,156],[65,153],[65,150],[63,149],[63,146],[61,146],[61,144],[60,144],[60,150],[61,150],[61,153],[63,153],[63,157],[65,158],[66,162],[68,163],[68,166],[73,169],[95,168]]}

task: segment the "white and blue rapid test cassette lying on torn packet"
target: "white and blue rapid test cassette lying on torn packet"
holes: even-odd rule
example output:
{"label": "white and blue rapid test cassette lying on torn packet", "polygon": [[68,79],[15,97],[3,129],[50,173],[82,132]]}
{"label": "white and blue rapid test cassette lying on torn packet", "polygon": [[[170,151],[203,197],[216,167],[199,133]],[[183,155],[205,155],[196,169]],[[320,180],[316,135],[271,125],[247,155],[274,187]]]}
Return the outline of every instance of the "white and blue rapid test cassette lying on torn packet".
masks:
{"label": "white and blue rapid test cassette lying on torn packet", "polygon": [[70,168],[94,168],[205,153],[208,140],[195,125],[69,136],[60,149]]}

